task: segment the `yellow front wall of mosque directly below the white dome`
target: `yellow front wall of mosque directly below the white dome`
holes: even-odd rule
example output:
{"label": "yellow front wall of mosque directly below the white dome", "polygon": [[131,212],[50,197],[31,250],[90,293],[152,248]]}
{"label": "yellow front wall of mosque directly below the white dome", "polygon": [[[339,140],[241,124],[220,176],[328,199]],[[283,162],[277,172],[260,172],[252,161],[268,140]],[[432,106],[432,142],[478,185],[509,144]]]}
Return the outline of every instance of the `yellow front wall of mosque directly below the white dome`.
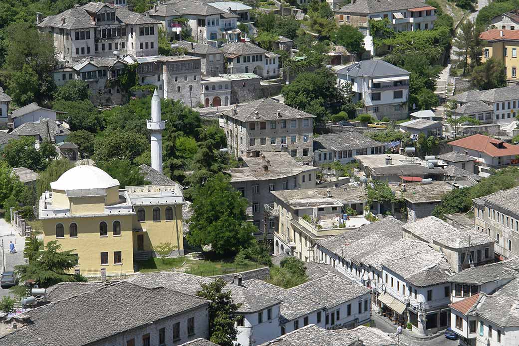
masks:
{"label": "yellow front wall of mosque directly below the white dome", "polygon": [[[44,243],[57,240],[62,245],[61,250],[72,250],[78,254],[79,269],[100,270],[106,268],[107,273],[132,273],[133,272],[133,234],[132,234],[133,215],[103,216],[103,217],[83,217],[83,218],[63,218],[63,219],[44,219],[43,232]],[[121,223],[121,235],[114,236],[113,221]],[[105,221],[108,226],[108,235],[99,235],[99,223]],[[70,237],[69,226],[72,222],[77,224],[77,238]],[[64,237],[56,238],[56,224],[62,223]],[[114,251],[121,251],[122,264],[114,264]],[[108,252],[108,264],[101,265],[101,252]]]}

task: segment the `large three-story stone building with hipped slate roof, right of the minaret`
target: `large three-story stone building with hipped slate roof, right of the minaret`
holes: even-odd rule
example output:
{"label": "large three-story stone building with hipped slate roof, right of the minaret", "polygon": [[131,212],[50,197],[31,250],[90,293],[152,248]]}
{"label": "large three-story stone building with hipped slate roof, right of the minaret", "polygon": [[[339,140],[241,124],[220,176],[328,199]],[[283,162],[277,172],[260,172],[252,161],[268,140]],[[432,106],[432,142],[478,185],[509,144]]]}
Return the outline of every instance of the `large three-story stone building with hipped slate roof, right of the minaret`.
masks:
{"label": "large three-story stone building with hipped slate roof, right of the minaret", "polygon": [[[243,82],[245,84],[245,82]],[[220,127],[227,136],[227,148],[236,157],[251,151],[260,152],[287,150],[297,161],[312,162],[313,118],[270,98],[235,105],[224,111]]]}

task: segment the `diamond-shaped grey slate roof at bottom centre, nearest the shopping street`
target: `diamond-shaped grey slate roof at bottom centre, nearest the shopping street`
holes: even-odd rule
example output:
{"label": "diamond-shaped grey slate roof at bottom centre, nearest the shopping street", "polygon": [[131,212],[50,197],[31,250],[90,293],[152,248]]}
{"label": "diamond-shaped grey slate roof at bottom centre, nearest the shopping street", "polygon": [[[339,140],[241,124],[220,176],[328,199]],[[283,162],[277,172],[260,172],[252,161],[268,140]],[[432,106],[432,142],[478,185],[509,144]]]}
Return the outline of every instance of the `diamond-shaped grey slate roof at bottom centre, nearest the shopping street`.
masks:
{"label": "diamond-shaped grey slate roof at bottom centre, nearest the shopping street", "polygon": [[371,292],[371,289],[354,284],[338,275],[328,275],[292,287],[289,291],[317,301],[323,304],[326,309],[333,309],[339,304],[359,298]]}

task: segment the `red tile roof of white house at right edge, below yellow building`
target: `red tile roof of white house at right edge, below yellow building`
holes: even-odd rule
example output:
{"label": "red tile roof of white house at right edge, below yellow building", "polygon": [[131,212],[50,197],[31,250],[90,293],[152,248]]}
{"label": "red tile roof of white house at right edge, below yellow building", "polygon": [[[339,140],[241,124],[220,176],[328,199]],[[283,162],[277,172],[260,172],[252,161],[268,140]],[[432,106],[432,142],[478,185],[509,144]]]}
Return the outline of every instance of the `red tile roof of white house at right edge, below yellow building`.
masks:
{"label": "red tile roof of white house at right edge, below yellow building", "polygon": [[456,147],[484,152],[492,157],[519,155],[518,145],[512,145],[484,135],[469,136],[449,142],[449,144]]}

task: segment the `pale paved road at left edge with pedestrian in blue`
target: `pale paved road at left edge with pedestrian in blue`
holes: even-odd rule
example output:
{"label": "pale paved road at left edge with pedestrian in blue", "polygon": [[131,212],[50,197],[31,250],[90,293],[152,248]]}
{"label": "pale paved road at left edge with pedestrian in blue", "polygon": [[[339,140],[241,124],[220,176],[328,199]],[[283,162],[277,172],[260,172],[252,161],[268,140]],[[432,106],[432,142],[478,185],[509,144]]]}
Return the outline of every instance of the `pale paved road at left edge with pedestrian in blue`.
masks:
{"label": "pale paved road at left edge with pedestrian in blue", "polygon": [[[25,238],[18,235],[4,219],[0,219],[0,245],[4,241],[4,254],[0,256],[0,271],[4,268],[5,259],[5,270],[12,271],[15,265],[23,264],[23,248],[25,246]],[[16,254],[9,252],[9,242],[15,244]],[[2,248],[0,247],[0,255],[2,254]],[[0,288],[0,298],[9,294],[8,288]]]}

